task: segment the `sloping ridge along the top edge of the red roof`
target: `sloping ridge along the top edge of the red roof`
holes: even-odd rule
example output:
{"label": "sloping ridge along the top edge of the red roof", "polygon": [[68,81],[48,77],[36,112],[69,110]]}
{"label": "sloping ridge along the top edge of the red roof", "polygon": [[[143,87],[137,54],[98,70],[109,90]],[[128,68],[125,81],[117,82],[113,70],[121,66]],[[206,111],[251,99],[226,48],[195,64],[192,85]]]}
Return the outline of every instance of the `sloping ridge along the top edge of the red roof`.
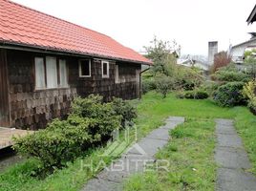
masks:
{"label": "sloping ridge along the top edge of the red roof", "polygon": [[[73,23],[73,22],[71,22],[71,21],[64,20],[64,19],[62,19],[62,18],[59,18],[59,17],[57,17],[57,16],[53,16],[53,15],[51,15],[51,14],[49,14],[49,13],[45,13],[45,12],[43,12],[43,11],[34,10],[34,9],[28,7],[28,6],[24,6],[24,5],[18,4],[18,3],[16,3],[16,2],[11,1],[11,0],[2,0],[2,1],[6,1],[6,2],[8,2],[8,3],[14,4],[15,6],[19,6],[19,7],[21,7],[21,8],[24,8],[24,9],[27,9],[27,10],[30,10],[30,11],[35,11],[35,12],[38,12],[38,13],[40,13],[40,14],[44,14],[44,15],[46,15],[46,16],[52,17],[53,19],[57,19],[57,20],[60,20],[60,21],[62,21],[62,22],[65,22],[65,23],[68,23],[68,24],[71,24],[71,25],[75,25],[76,27],[81,28],[81,29],[83,29],[83,30],[88,30],[88,31],[91,31],[91,32],[96,32],[95,30],[91,30],[91,29],[89,29],[89,28],[87,28],[87,27],[80,26],[80,25],[75,24],[75,23]],[[107,35],[107,34],[105,34],[105,33],[102,33],[102,32],[96,32],[96,33],[101,34],[101,35],[105,35],[105,36],[107,36],[107,37],[109,37],[109,38],[112,38],[111,36],[109,36],[109,35]],[[113,38],[112,38],[112,39],[113,39]]]}

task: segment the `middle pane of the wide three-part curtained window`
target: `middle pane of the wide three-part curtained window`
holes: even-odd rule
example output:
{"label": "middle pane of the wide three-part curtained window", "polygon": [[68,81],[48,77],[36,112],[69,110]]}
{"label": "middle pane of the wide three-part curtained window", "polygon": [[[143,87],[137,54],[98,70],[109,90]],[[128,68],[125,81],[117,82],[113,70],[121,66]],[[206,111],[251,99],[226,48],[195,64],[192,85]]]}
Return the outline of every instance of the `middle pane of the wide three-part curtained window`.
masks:
{"label": "middle pane of the wide three-part curtained window", "polygon": [[46,57],[47,88],[57,88],[57,66],[55,57]]}

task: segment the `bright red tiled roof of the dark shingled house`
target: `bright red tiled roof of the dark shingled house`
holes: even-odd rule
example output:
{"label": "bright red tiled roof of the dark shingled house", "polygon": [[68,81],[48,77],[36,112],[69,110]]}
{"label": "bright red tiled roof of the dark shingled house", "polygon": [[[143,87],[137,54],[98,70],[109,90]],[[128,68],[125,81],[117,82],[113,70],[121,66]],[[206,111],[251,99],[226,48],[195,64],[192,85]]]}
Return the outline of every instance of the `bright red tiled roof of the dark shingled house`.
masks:
{"label": "bright red tiled roof of the dark shingled house", "polygon": [[8,0],[0,0],[0,43],[151,64],[113,38]]}

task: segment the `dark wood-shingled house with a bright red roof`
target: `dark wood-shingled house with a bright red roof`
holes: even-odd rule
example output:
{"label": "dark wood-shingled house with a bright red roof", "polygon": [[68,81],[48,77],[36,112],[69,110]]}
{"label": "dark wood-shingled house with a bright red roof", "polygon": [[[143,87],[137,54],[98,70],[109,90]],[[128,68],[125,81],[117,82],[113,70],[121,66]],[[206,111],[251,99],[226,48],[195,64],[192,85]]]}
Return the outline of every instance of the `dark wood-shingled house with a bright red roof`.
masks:
{"label": "dark wood-shingled house with a bright red roof", "polygon": [[139,97],[151,61],[111,37],[0,0],[0,126],[43,128],[75,96]]}

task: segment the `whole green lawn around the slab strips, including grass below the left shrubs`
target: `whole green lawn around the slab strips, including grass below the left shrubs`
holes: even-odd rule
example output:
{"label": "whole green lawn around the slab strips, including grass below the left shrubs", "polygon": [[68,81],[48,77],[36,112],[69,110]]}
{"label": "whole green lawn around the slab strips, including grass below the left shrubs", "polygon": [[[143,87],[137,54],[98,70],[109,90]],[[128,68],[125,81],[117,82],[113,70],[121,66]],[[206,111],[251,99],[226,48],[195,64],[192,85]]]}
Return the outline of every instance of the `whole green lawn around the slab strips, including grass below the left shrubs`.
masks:
{"label": "whole green lawn around the slab strips, including grass below the left shrubs", "polygon": [[[235,119],[236,127],[244,139],[245,148],[253,162],[252,172],[256,174],[256,117],[251,115],[247,108],[220,108],[210,100],[178,99],[173,95],[162,99],[156,93],[143,96],[138,107],[139,117],[136,124],[139,129],[139,138],[159,127],[169,116],[186,117],[186,122],[179,127],[185,136],[175,138],[175,142],[170,142],[158,154],[160,159],[171,159],[174,164],[171,170],[176,172],[176,176],[172,173],[164,174],[164,172],[149,173],[144,176],[137,175],[138,177],[127,181],[127,190],[133,190],[133,188],[135,188],[134,190],[150,190],[145,187],[146,182],[151,182],[151,184],[161,182],[160,187],[155,190],[168,190],[170,183],[174,190],[181,190],[184,187],[191,190],[212,190],[214,185],[212,180],[215,180],[216,168],[212,158],[215,143],[213,118],[216,117]],[[194,133],[193,136],[190,135],[191,132]],[[84,158],[75,160],[69,167],[57,170],[45,180],[37,180],[30,176],[36,162],[28,159],[11,166],[0,174],[0,190],[79,190],[86,180],[94,176],[94,173],[87,168],[80,167],[81,160],[83,163],[88,163],[93,159],[94,166],[96,166],[96,162],[100,159],[98,154],[102,152],[104,152],[104,148],[99,148]],[[181,163],[178,160],[181,160]],[[104,161],[109,163],[111,158],[105,158]],[[164,176],[160,178],[162,173]],[[137,187],[138,184],[141,187]]]}

